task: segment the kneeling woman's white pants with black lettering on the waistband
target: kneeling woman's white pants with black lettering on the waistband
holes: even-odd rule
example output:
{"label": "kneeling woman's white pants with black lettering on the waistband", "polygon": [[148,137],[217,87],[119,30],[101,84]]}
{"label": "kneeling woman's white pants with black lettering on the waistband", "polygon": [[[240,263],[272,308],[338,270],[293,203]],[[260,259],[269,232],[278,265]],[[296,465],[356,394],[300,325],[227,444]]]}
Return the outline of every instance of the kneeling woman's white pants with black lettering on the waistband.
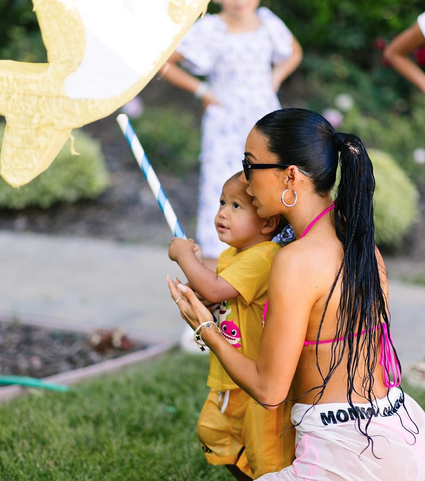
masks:
{"label": "kneeling woman's white pants with black lettering on the waistband", "polygon": [[[304,419],[310,406],[295,404],[291,420],[300,423],[295,427],[296,459],[258,481],[424,481],[425,413],[410,396],[404,397],[406,409],[402,392],[393,388],[389,399],[375,402],[374,413],[370,404],[355,404],[353,410],[347,403],[329,403],[318,404]],[[371,416],[367,432],[376,457],[356,429],[356,417],[364,429]]]}

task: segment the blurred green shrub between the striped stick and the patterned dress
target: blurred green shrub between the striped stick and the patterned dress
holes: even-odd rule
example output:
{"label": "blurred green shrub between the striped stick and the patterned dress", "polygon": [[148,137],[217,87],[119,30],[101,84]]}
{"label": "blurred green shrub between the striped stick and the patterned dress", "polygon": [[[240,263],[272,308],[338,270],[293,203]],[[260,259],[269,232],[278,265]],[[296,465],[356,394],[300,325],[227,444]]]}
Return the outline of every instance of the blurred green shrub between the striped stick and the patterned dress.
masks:
{"label": "blurred green shrub between the striped stick and the patterned dress", "polygon": [[177,107],[145,108],[132,124],[155,170],[183,176],[197,166],[200,132],[191,111]]}

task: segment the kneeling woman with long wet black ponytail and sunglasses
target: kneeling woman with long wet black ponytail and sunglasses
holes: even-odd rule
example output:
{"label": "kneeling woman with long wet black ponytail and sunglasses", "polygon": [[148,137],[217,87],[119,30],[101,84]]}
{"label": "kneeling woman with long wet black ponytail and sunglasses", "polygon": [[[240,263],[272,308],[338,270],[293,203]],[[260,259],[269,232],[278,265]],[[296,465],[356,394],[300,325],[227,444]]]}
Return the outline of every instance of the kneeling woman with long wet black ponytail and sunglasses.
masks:
{"label": "kneeling woman with long wet black ponytail and sunglasses", "polygon": [[257,360],[211,328],[191,289],[169,287],[237,385],[266,409],[289,389],[296,401],[296,460],[260,480],[423,481],[425,413],[399,387],[364,145],[316,112],[284,109],[257,122],[245,150],[241,181],[258,215],[284,215],[297,239],[273,260]]}

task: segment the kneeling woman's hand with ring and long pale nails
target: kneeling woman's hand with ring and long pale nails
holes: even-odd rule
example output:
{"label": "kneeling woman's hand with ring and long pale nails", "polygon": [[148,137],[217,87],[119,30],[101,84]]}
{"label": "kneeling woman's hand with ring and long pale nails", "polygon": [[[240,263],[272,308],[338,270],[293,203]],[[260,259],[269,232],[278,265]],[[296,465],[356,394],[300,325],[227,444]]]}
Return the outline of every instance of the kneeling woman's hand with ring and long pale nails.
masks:
{"label": "kneeling woman's hand with ring and long pale nails", "polygon": [[199,301],[195,292],[180,281],[174,282],[167,276],[171,297],[180,309],[182,318],[195,330],[201,322],[213,321],[211,312]]}

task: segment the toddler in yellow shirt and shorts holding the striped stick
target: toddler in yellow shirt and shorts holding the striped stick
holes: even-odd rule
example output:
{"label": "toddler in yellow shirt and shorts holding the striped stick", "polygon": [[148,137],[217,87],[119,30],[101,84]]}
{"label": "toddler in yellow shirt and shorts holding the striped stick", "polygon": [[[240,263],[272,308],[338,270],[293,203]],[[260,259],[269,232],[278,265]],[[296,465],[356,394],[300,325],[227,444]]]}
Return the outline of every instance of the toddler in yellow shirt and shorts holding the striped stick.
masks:
{"label": "toddler in yellow shirt and shorts holding the striped stick", "polygon": [[[270,268],[280,249],[272,239],[287,223],[278,215],[258,217],[254,199],[239,176],[224,184],[215,216],[218,237],[229,245],[218,258],[216,272],[199,261],[200,251],[193,240],[173,239],[168,254],[202,298],[220,303],[214,319],[228,342],[256,359]],[[256,404],[233,383],[213,353],[207,385],[211,390],[197,434],[208,463],[227,465],[242,480],[257,479],[291,464],[294,430],[282,436],[284,425],[290,425],[288,405],[268,411]]]}

